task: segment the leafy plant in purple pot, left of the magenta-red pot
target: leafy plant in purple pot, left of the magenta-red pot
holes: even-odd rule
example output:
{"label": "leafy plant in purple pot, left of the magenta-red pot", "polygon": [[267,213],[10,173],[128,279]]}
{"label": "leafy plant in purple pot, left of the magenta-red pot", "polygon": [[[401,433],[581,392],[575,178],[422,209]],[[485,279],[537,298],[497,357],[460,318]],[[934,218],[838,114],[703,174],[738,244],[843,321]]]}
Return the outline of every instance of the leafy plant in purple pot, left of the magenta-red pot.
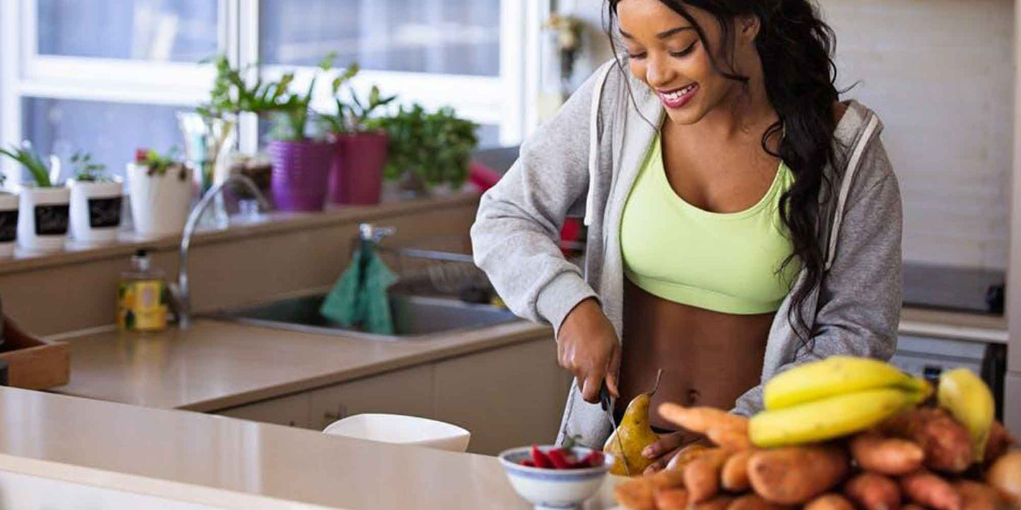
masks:
{"label": "leafy plant in purple pot, left of the magenta-red pot", "polygon": [[[329,69],[332,61],[333,55],[328,55],[320,63],[320,69]],[[304,94],[283,94],[276,106],[277,125],[269,153],[273,161],[273,198],[281,210],[319,211],[326,203],[333,146],[306,134],[317,78],[312,78]],[[281,84],[290,82],[288,74]]]}

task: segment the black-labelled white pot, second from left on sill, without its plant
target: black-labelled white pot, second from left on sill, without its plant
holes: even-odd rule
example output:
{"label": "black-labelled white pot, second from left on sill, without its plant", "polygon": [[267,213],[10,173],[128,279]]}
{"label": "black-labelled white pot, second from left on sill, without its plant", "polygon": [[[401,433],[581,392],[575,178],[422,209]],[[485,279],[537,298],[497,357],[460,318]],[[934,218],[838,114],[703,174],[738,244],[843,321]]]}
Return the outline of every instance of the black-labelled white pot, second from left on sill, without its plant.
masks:
{"label": "black-labelled white pot, second from left on sill, without its plant", "polygon": [[20,193],[17,243],[30,252],[63,250],[70,215],[70,190],[26,188]]}

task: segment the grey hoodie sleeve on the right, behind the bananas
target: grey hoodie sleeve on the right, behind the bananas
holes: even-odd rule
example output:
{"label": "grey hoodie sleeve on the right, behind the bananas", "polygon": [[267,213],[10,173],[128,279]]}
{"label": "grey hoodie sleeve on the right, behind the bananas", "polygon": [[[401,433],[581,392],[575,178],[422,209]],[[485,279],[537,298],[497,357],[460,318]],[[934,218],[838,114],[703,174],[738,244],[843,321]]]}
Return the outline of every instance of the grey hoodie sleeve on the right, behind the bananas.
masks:
{"label": "grey hoodie sleeve on the right, behind the bananas", "polygon": [[[901,320],[901,190],[878,138],[865,151],[844,207],[833,264],[823,277],[812,341],[796,350],[797,364],[835,354],[888,360]],[[760,385],[737,399],[733,412],[762,409]]]}

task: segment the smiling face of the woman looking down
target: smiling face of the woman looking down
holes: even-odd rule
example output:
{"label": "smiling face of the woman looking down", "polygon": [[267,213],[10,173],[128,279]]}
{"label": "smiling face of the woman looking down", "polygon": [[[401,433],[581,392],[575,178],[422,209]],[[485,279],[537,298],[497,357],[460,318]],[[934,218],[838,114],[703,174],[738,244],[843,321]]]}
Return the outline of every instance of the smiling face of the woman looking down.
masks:
{"label": "smiling face of the woman looking down", "polygon": [[[690,6],[687,11],[719,52],[721,29],[713,14]],[[617,15],[631,72],[659,94],[671,120],[697,122],[742,86],[716,71],[694,27],[660,0],[621,0]],[[735,46],[742,43],[739,34],[735,39]],[[717,53],[722,65],[729,60]]]}

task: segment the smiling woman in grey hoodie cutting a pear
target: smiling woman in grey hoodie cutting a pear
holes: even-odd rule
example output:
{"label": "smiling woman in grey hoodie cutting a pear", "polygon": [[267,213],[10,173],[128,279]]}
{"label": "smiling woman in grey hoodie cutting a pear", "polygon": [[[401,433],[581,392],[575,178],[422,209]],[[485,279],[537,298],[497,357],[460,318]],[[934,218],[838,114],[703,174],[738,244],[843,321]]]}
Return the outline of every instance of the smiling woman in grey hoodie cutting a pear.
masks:
{"label": "smiling woman in grey hoodie cutting a pear", "polygon": [[[601,446],[659,369],[665,401],[750,415],[761,386],[833,354],[885,359],[902,211],[876,115],[839,103],[832,31],[808,0],[610,0],[604,64],[482,199],[476,262],[549,322],[576,376],[560,441]],[[584,272],[561,256],[589,225]],[[654,413],[653,413],[654,414]],[[695,440],[643,455],[661,469]]]}

